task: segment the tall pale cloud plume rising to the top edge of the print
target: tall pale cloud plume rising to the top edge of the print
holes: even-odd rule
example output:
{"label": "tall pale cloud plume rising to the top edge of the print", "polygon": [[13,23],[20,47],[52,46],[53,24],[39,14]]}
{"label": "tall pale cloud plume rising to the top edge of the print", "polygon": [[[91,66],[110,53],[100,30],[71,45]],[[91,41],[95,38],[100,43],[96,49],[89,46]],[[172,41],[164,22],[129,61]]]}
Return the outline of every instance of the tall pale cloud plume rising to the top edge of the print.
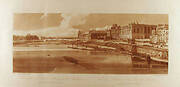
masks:
{"label": "tall pale cloud plume rising to the top edge of the print", "polygon": [[[78,13],[63,13],[61,14],[63,20],[61,21],[58,28],[55,29],[56,33],[51,33],[55,36],[73,36],[78,35],[78,30],[73,28],[75,25],[81,25],[86,22],[86,16],[88,14]],[[55,32],[54,31],[54,32]]]}

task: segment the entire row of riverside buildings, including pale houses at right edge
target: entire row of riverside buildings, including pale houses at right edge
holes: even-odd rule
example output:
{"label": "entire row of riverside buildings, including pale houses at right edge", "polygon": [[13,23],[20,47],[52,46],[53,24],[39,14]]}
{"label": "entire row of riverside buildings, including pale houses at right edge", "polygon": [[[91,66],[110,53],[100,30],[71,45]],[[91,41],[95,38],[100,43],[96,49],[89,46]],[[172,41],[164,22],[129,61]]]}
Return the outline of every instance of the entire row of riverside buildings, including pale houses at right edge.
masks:
{"label": "entire row of riverside buildings, including pale houses at right edge", "polygon": [[79,31],[81,40],[132,40],[149,39],[151,43],[168,43],[168,24],[148,25],[131,23],[125,26],[113,24],[104,30]]}

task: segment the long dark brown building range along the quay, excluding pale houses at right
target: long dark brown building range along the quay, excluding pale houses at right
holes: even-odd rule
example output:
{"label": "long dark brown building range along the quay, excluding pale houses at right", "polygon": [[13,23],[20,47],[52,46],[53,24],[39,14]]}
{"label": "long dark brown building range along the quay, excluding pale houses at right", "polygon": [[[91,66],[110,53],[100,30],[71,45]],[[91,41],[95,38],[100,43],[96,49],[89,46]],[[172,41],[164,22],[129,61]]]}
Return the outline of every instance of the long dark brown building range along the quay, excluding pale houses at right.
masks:
{"label": "long dark brown building range along the quay, excluding pale houses at right", "polygon": [[100,39],[100,40],[131,40],[150,39],[157,25],[131,23],[125,26],[113,24],[103,30],[90,30],[88,33],[79,32],[80,39]]}

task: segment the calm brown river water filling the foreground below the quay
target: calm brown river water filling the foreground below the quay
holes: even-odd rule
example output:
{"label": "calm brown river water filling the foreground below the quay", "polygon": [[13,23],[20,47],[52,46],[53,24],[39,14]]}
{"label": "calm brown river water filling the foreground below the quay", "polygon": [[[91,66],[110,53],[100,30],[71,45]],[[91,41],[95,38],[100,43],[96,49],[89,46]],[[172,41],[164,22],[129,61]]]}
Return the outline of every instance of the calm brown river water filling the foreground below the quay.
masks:
{"label": "calm brown river water filling the foreground below the quay", "polygon": [[[79,64],[64,57],[78,60]],[[90,74],[161,74],[167,69],[134,68],[130,55],[115,52],[88,51],[68,45],[28,45],[13,49],[14,72],[90,73]]]}

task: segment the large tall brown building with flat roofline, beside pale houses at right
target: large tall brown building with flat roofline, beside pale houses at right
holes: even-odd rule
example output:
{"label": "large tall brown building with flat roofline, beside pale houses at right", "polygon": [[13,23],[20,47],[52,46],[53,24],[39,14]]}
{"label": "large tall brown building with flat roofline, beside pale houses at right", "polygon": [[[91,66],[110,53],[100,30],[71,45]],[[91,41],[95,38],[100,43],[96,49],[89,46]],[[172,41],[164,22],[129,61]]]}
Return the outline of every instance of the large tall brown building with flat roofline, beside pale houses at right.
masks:
{"label": "large tall brown building with flat roofline, beside pale houses at right", "polygon": [[156,30],[156,25],[132,23],[122,26],[120,30],[121,39],[149,39],[152,31]]}

